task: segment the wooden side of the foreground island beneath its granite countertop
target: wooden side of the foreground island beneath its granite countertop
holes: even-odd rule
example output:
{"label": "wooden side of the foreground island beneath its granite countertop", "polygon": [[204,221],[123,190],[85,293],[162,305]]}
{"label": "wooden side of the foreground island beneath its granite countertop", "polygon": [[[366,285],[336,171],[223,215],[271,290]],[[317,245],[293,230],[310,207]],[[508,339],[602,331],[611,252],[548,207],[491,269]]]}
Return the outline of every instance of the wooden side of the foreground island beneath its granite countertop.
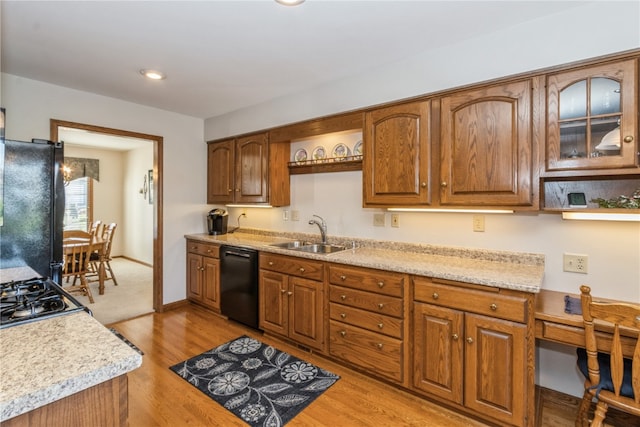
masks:
{"label": "wooden side of the foreground island beneath its granite countertop", "polygon": [[125,374],[3,421],[2,427],[126,427],[128,417]]}

